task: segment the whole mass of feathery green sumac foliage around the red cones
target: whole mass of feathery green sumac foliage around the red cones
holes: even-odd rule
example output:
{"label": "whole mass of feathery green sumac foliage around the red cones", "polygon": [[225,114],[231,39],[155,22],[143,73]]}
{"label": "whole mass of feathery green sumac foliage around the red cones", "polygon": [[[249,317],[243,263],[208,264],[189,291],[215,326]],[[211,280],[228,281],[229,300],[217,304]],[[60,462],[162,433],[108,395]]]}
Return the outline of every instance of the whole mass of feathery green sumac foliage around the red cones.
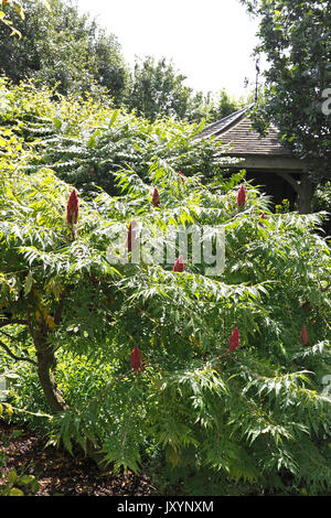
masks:
{"label": "whole mass of feathery green sumac foliage around the red cones", "polygon": [[[149,464],[168,481],[199,479],[201,493],[325,494],[331,250],[319,231],[323,214],[271,214],[245,182],[238,205],[243,174],[225,181],[215,169],[202,182],[200,164],[193,168],[200,150],[171,120],[151,126],[92,100],[55,102],[47,91],[3,84],[0,131],[0,369],[11,379],[3,412],[70,451],[102,451],[115,470]],[[111,157],[105,145],[114,147],[114,134],[131,142],[132,157],[126,147],[121,170],[109,168],[117,196],[78,190],[73,228],[66,204],[82,179],[61,169],[67,157],[56,149],[76,138],[79,160],[84,131],[96,168]],[[40,152],[47,134],[50,162]],[[150,231],[141,261],[109,261],[113,230],[124,229],[125,244],[132,219]],[[216,277],[204,260],[189,257],[182,272],[151,261],[154,236],[192,224],[224,230]],[[181,251],[178,244],[174,257]],[[229,350],[236,327],[239,344]],[[141,370],[130,370],[134,346]]]}

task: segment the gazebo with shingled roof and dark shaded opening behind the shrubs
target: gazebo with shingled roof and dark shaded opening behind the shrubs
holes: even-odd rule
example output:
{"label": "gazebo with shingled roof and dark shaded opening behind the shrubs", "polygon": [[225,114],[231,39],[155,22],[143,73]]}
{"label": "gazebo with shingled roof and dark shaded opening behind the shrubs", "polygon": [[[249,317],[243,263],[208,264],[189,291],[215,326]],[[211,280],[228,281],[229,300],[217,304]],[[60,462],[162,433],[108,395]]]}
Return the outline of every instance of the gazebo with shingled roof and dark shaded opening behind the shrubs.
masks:
{"label": "gazebo with shingled roof and dark shaded opening behind the shrubs", "polygon": [[197,138],[213,138],[229,144],[222,155],[241,159],[231,171],[245,169],[247,180],[263,185],[275,204],[288,198],[293,205],[298,198],[299,212],[309,213],[312,188],[305,162],[295,157],[275,126],[269,127],[265,137],[252,128],[249,110],[253,106],[209,126]]}

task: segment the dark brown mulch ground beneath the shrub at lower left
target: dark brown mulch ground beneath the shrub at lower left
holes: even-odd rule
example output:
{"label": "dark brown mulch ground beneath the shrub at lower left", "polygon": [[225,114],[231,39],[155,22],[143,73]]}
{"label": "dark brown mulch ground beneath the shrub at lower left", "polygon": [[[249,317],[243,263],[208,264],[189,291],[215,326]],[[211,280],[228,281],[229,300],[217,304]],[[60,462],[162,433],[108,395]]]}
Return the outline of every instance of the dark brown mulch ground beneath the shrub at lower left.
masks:
{"label": "dark brown mulch ground beneath the shrub at lower left", "polygon": [[[0,420],[0,485],[9,472],[34,475],[40,488],[35,496],[154,496],[156,489],[141,473],[113,475],[102,473],[93,461],[76,454],[71,456],[33,433],[10,427]],[[3,455],[4,453],[4,455]]]}

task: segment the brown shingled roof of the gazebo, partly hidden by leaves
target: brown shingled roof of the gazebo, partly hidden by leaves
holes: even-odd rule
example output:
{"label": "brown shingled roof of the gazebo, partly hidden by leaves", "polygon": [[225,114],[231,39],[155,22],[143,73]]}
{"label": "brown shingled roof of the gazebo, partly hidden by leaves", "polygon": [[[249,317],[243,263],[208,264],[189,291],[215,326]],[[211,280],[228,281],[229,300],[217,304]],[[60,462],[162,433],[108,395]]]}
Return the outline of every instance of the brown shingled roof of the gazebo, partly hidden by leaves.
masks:
{"label": "brown shingled roof of the gazebo, partly hidden by leaves", "polygon": [[265,137],[252,128],[248,111],[254,105],[249,105],[234,114],[224,117],[217,122],[205,128],[199,138],[213,137],[225,144],[231,144],[227,155],[268,155],[293,157],[291,150],[281,142],[280,133],[275,126],[270,126]]}

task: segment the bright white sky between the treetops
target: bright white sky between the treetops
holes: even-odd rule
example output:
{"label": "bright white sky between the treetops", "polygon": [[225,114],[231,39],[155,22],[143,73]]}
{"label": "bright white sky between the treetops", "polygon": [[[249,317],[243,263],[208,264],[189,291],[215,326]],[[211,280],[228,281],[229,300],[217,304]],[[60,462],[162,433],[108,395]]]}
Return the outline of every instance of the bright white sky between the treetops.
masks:
{"label": "bright white sky between the treetops", "polygon": [[232,96],[246,96],[245,77],[255,83],[252,53],[257,21],[238,0],[77,0],[77,4],[117,36],[130,65],[135,56],[166,57],[186,76],[186,86],[205,94],[225,88]]}

